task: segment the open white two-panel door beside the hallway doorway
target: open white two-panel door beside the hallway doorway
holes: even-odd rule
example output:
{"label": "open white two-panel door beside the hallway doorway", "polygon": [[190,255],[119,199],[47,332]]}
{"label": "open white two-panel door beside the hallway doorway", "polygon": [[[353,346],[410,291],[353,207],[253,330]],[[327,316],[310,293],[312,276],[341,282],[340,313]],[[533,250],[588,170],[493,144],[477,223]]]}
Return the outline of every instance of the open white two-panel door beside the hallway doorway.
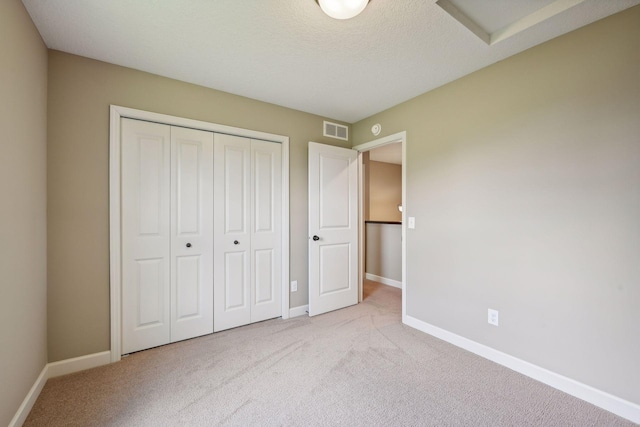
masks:
{"label": "open white two-panel door beside the hallway doorway", "polygon": [[357,152],[310,142],[309,315],[357,303]]}

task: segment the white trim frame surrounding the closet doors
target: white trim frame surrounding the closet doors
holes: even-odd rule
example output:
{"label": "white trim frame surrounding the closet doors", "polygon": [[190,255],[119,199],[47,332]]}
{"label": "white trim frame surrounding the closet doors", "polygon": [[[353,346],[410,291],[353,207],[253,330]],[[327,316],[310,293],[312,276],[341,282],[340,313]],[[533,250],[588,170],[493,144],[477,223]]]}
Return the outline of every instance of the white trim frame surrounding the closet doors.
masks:
{"label": "white trim frame surrounding the closet doors", "polygon": [[[121,151],[120,121],[123,118],[146,120],[214,133],[225,133],[282,144],[282,308],[283,319],[289,318],[289,137],[236,128],[216,123],[152,113],[117,105],[110,106],[109,121],[109,293],[111,362],[121,359],[122,350],[122,254],[121,236]],[[215,203],[215,201],[214,201]]]}

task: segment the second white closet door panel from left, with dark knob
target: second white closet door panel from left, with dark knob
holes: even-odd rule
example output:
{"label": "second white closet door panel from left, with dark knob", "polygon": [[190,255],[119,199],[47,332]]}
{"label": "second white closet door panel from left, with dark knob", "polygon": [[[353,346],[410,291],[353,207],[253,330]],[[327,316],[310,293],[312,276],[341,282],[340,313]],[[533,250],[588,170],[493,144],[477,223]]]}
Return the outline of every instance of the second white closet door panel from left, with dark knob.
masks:
{"label": "second white closet door panel from left, with dark knob", "polygon": [[213,332],[213,133],[171,128],[171,342]]}

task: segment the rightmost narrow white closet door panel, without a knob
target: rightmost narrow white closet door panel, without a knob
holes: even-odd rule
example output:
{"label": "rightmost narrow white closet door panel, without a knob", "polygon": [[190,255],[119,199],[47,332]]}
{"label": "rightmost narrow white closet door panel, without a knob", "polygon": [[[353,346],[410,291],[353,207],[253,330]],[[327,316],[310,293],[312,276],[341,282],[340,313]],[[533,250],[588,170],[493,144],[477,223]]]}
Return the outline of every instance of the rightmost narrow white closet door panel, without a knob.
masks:
{"label": "rightmost narrow white closet door panel, without a knob", "polygon": [[282,146],[251,141],[251,322],[282,314]]}

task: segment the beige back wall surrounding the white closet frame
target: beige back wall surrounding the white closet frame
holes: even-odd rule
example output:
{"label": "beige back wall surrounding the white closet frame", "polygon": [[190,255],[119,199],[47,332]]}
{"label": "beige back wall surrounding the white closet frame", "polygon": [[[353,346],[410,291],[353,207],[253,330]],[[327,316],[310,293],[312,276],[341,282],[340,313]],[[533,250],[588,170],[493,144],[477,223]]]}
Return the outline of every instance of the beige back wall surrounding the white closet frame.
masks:
{"label": "beige back wall surrounding the white closet frame", "polygon": [[291,307],[307,304],[307,145],[322,117],[49,52],[49,361],[109,349],[109,105],[290,137]]}

